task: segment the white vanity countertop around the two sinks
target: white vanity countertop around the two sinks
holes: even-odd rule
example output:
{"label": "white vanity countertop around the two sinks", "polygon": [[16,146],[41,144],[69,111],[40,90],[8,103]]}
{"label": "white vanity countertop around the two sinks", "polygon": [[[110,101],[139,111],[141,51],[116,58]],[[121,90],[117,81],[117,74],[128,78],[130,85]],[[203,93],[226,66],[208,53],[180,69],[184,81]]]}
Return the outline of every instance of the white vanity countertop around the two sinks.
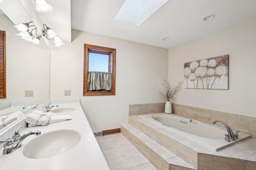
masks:
{"label": "white vanity countertop around the two sinks", "polygon": [[[54,113],[55,115],[70,114],[72,120],[51,123],[46,126],[23,127],[20,129],[20,135],[28,131],[39,130],[44,134],[60,129],[72,129],[80,133],[80,143],[62,154],[48,158],[32,159],[22,154],[24,146],[31,139],[37,137],[31,135],[24,139],[20,148],[10,154],[3,155],[3,149],[0,149],[0,170],[109,170],[106,159],[80,104],[58,104],[58,106],[53,107],[52,110],[64,107],[75,108],[76,110],[69,113]],[[3,140],[2,137],[0,140]]]}

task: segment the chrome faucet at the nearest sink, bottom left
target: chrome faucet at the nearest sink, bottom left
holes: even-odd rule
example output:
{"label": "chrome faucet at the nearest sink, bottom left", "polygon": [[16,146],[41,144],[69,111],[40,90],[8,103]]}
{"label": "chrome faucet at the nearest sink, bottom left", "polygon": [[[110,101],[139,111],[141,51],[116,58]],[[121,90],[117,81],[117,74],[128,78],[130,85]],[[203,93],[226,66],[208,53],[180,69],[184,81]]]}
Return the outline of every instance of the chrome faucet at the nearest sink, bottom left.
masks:
{"label": "chrome faucet at the nearest sink, bottom left", "polygon": [[4,143],[3,154],[9,154],[9,153],[12,153],[14,150],[18,149],[26,137],[28,137],[30,135],[38,136],[41,134],[41,131],[30,131],[20,137],[19,130],[21,128],[22,128],[22,126],[20,126],[18,129],[16,129],[16,131],[14,132],[14,134],[12,136],[12,139],[6,138],[6,139],[0,141],[1,144]]}

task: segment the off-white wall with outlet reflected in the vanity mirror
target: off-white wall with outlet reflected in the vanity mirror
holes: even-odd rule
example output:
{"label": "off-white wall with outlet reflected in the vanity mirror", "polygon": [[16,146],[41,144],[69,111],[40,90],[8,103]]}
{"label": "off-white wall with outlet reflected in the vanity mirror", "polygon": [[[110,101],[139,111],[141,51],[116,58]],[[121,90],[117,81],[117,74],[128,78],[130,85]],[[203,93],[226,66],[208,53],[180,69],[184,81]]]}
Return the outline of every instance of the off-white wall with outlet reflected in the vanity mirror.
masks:
{"label": "off-white wall with outlet reflected in the vanity mirror", "polygon": [[[18,30],[0,15],[0,30],[6,31],[6,98],[0,99],[0,110],[11,101],[49,99],[49,48],[20,39]],[[25,97],[25,90],[34,90],[34,97]]]}

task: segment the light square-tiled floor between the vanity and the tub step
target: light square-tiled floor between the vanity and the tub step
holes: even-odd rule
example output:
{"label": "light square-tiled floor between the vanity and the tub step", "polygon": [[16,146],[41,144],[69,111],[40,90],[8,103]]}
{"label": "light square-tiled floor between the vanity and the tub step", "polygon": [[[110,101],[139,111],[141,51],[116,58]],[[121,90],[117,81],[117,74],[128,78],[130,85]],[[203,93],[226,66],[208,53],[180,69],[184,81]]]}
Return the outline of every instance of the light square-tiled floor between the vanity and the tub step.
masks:
{"label": "light square-tiled floor between the vanity and the tub step", "polygon": [[96,139],[111,170],[157,170],[121,133]]}

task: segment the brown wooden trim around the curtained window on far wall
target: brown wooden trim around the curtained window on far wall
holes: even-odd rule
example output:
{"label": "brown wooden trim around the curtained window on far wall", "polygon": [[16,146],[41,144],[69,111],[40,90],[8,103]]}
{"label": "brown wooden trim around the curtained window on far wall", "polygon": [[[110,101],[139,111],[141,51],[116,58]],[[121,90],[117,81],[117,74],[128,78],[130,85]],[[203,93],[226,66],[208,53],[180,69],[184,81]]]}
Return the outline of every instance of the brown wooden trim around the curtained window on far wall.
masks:
{"label": "brown wooden trim around the curtained window on far wall", "polygon": [[[101,91],[88,91],[88,51],[94,51],[98,53],[109,53],[112,63],[112,80],[111,80],[111,91],[101,90]],[[84,44],[84,96],[94,96],[94,95],[115,95],[116,94],[116,49],[108,47],[100,47],[96,45]]]}

